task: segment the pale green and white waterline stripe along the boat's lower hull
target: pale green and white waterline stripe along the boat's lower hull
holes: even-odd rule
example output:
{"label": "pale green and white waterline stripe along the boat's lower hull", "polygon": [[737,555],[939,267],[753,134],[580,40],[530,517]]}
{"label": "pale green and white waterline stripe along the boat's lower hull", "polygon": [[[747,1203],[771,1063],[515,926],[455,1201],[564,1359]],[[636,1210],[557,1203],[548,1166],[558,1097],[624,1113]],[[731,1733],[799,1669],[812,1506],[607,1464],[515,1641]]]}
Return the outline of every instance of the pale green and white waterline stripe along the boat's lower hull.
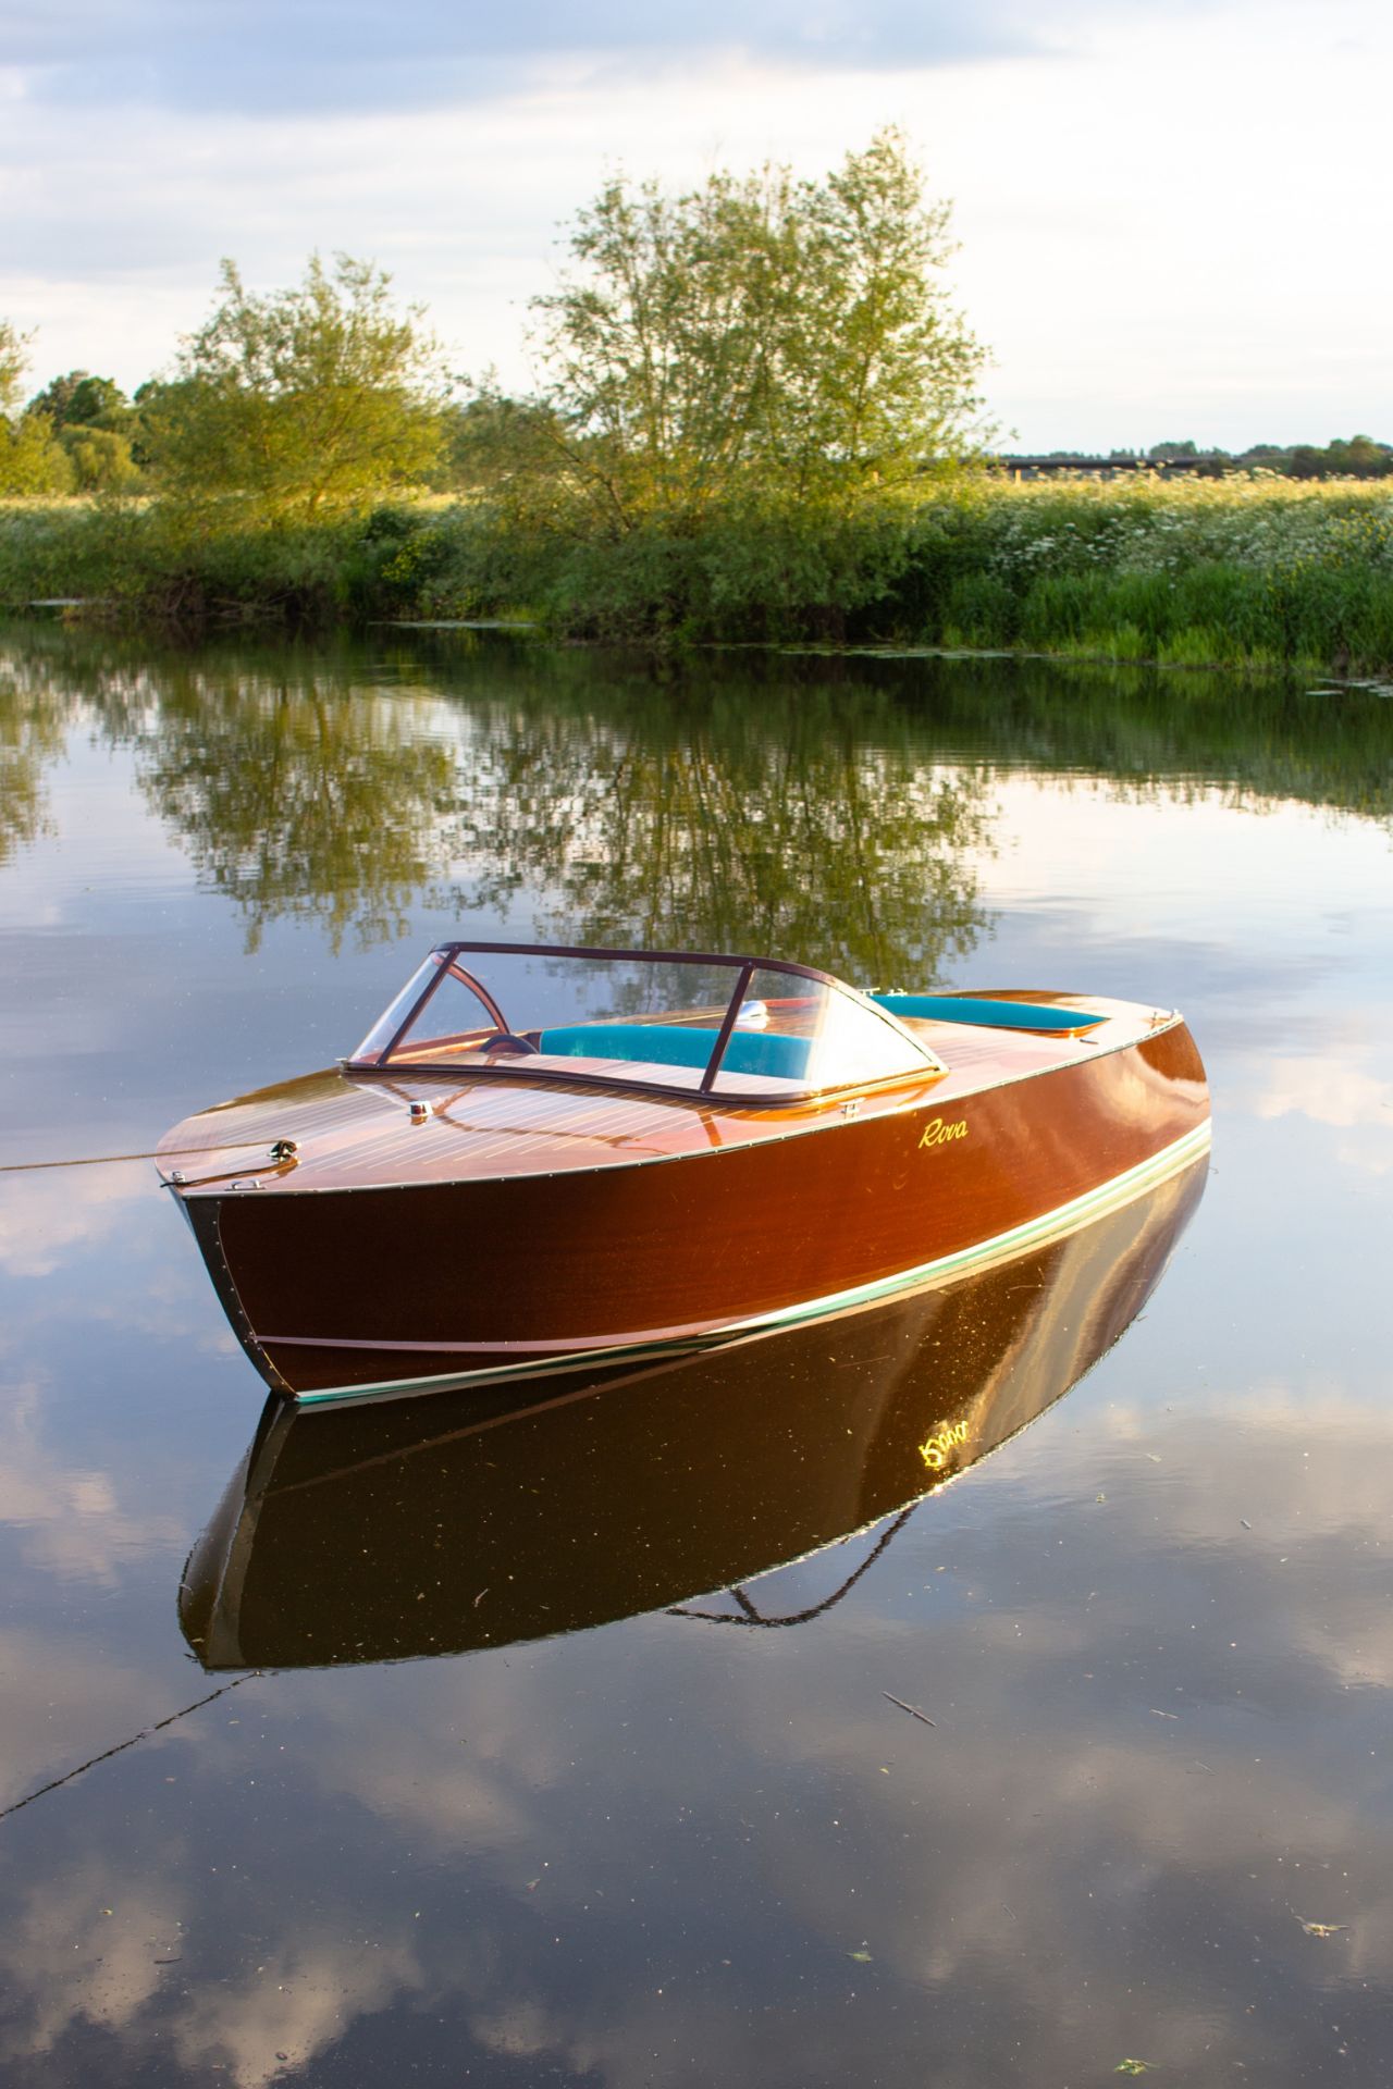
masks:
{"label": "pale green and white waterline stripe along the boat's lower hull", "polygon": [[1088,1224],[1092,1218],[1103,1218],[1105,1212],[1117,1205],[1130,1203],[1132,1197],[1147,1189],[1155,1189],[1167,1176],[1178,1174],[1188,1161],[1199,1159],[1201,1153],[1209,1149],[1211,1128],[1209,1122],[1197,1126],[1197,1130],[1186,1132],[1174,1145],[1163,1147],[1161,1153],[1153,1153],[1149,1161],[1140,1161],[1136,1168],[1128,1168],[1126,1174],[1113,1176],[1101,1189],[1086,1191],[1082,1197],[1073,1197],[1069,1203],[1055,1205],[1053,1212],[1044,1212],[1040,1218],[1028,1220],[1023,1226],[1011,1226],[1007,1233],[994,1233],[990,1241],[977,1241],[973,1247],[961,1247],[952,1255],[940,1255],[936,1262],[921,1262],[913,1270],[898,1270],[894,1276],[877,1276],[867,1285],[852,1285],[848,1291],[829,1291],[823,1297],[808,1299],[804,1306],[785,1306],[779,1312],[756,1314],[750,1320],[729,1320],[710,1335],[672,1337],[664,1341],[631,1341],[616,1343],[610,1349],[583,1349],[568,1352],[549,1358],[526,1358],[520,1364],[489,1364],[476,1370],[449,1370],[430,1379],[382,1379],[376,1385],[330,1385],[315,1393],[297,1393],[294,1400],[303,1408],[334,1404],[340,1406],[347,1400],[391,1400],[407,1393],[424,1391],[447,1391],[455,1385],[495,1385],[501,1379],[520,1377],[551,1377],[558,1370],[585,1370],[591,1366],[606,1364],[641,1364],[650,1358],[660,1356],[685,1356],[698,1349],[710,1349],[714,1343],[731,1341],[737,1335],[764,1335],[781,1327],[798,1327],[804,1320],[819,1320],[831,1312],[846,1312],[852,1306],[873,1306],[875,1299],[894,1297],[898,1291],[911,1291],[915,1285],[927,1283],[929,1278],[961,1276],[975,1268],[986,1268],[990,1262],[1005,1262],[1025,1247],[1034,1247],[1040,1241],[1053,1239],[1073,1230],[1076,1226]]}

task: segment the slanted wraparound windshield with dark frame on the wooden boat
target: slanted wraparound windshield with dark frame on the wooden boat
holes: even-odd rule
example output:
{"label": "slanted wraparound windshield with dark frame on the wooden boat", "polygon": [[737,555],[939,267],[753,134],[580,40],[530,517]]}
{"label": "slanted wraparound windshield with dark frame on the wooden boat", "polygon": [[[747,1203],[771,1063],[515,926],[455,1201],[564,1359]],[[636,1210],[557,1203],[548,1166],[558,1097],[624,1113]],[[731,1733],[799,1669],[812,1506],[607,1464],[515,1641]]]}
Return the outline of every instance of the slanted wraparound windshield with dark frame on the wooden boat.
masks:
{"label": "slanted wraparound windshield with dark frame on the wooden boat", "polygon": [[441,944],[349,1061],[787,1101],[942,1072],[892,1015],[802,965]]}

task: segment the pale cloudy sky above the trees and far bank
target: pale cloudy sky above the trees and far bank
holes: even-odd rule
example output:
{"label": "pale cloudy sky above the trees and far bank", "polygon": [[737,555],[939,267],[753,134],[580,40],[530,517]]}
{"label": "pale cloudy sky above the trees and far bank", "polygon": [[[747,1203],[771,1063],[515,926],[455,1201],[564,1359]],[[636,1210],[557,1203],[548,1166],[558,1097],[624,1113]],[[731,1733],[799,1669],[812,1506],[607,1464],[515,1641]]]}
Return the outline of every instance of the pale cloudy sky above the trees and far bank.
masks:
{"label": "pale cloudy sky above the trees and far bank", "polygon": [[1385,0],[0,0],[0,318],[132,389],[347,251],[526,386],[606,173],[898,123],[1005,447],[1393,441],[1391,67]]}

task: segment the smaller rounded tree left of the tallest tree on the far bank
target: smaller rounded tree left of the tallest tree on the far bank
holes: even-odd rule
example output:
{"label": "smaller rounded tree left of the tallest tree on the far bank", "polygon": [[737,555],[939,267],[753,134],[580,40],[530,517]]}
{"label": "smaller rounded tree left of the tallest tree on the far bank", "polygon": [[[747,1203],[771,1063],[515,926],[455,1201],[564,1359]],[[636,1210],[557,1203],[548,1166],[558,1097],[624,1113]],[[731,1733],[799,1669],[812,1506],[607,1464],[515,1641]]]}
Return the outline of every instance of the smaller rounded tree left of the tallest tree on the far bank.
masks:
{"label": "smaller rounded tree left of the tallest tree on the far bank", "polygon": [[443,439],[439,357],[420,307],[395,309],[388,286],[370,261],[313,255],[301,284],[253,297],[223,261],[221,303],[184,341],[173,380],[142,386],[159,480],[267,520],[420,480]]}

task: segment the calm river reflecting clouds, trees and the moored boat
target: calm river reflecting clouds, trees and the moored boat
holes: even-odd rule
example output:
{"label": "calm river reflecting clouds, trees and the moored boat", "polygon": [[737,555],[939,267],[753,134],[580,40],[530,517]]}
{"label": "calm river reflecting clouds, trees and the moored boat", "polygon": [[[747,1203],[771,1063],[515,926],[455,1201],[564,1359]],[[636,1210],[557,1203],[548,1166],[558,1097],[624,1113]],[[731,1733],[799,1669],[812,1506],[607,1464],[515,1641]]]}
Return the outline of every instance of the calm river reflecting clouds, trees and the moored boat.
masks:
{"label": "calm river reflecting clouds, trees and the moored boat", "polygon": [[[1362,691],[2,631],[6,2089],[1393,2079],[1391,844]],[[290,1427],[152,1164],[29,1164],[451,934],[1182,1007],[1207,1180]]]}

